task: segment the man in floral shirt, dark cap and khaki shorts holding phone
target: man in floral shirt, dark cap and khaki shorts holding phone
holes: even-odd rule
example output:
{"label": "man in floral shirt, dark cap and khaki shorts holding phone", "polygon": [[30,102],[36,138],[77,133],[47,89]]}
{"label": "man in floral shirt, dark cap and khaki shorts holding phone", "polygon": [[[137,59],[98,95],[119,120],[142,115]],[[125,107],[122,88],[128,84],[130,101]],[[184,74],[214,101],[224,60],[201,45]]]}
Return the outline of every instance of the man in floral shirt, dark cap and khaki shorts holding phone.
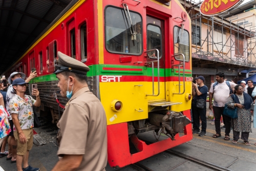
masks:
{"label": "man in floral shirt, dark cap and khaki shorts holding phone", "polygon": [[[17,141],[17,170],[18,171],[38,171],[39,168],[33,168],[28,164],[29,151],[33,146],[34,114],[32,106],[40,106],[40,97],[37,89],[32,90],[32,95],[36,96],[34,100],[31,96],[24,93],[29,83],[22,78],[17,78],[12,82],[16,94],[10,100],[10,113],[14,123],[14,137]],[[23,163],[23,168],[22,168]]]}

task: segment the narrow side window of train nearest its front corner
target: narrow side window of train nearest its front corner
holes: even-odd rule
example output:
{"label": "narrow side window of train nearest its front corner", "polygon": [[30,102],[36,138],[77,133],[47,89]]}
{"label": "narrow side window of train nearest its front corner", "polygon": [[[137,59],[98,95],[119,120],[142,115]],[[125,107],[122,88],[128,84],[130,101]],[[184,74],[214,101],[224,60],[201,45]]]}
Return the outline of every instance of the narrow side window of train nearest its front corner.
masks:
{"label": "narrow side window of train nearest its front corner", "polygon": [[81,26],[81,61],[87,61],[87,30],[86,24]]}

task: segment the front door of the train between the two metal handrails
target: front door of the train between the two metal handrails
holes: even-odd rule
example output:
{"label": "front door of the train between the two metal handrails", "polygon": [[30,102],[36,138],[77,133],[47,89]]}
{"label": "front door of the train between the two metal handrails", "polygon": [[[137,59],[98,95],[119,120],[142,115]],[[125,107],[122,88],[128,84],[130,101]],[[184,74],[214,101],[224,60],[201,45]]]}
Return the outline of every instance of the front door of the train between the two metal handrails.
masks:
{"label": "front door of the train between the two metal handrails", "polygon": [[165,101],[164,20],[147,15],[146,24],[147,99],[150,105],[158,105],[157,101]]}

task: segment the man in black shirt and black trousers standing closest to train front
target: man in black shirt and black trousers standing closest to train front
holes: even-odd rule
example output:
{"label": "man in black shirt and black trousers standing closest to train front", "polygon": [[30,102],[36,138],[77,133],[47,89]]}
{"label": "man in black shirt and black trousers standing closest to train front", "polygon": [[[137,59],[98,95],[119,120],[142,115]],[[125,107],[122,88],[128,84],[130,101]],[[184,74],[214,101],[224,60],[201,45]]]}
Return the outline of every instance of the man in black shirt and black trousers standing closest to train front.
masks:
{"label": "man in black shirt and black trousers standing closest to train front", "polygon": [[[206,97],[208,88],[204,85],[204,77],[199,76],[195,78],[196,83],[193,83],[193,91],[192,95],[194,97],[193,104],[192,104],[192,113],[193,113],[193,134],[199,134],[199,136],[206,135]],[[198,99],[203,99],[205,101],[204,108],[197,107]],[[200,133],[200,118],[202,121],[202,128]]]}

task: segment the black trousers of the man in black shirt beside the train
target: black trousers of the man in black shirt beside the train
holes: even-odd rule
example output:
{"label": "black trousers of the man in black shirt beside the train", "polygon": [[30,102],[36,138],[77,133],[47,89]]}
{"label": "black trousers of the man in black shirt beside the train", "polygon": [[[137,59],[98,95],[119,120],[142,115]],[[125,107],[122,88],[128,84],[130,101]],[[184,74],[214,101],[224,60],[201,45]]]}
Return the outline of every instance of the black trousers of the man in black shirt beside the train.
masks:
{"label": "black trousers of the man in black shirt beside the train", "polygon": [[200,118],[202,121],[202,131],[206,132],[206,107],[204,109],[197,108],[197,106],[192,106],[192,113],[193,113],[193,128],[194,130],[200,131]]}

